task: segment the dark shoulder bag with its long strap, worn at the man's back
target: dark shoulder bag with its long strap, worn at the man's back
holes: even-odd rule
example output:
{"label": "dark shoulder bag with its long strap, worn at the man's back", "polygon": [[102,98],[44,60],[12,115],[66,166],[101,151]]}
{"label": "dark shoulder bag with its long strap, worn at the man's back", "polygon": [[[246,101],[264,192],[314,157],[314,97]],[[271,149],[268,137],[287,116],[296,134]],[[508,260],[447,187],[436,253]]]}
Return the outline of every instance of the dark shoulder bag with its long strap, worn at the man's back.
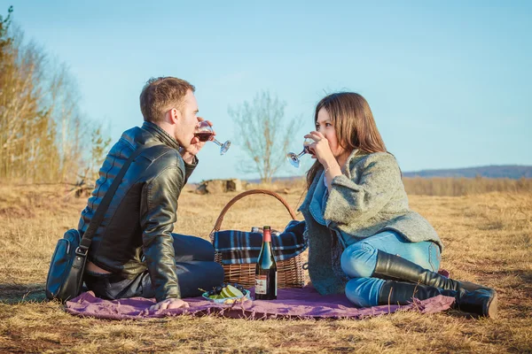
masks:
{"label": "dark shoulder bag with its long strap, worn at the man's back", "polygon": [[90,220],[85,234],[81,236],[80,232],[73,228],[66,231],[63,238],[58,241],[53,256],[51,256],[50,269],[46,278],[46,297],[50,300],[56,299],[65,302],[80,295],[82,292],[83,271],[85,270],[92,237],[102,223],[107,208],[113,199],[114,192],[118,189],[124,174],[128,171],[129,165],[142,150],[145,149],[137,148],[122,166],[120,173],[114,179]]}

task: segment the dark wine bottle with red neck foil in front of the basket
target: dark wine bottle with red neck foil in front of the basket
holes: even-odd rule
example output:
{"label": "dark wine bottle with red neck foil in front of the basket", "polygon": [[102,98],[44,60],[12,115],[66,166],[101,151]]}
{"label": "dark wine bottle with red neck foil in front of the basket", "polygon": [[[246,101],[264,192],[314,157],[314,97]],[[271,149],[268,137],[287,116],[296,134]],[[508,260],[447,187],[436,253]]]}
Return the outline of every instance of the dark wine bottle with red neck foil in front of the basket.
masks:
{"label": "dark wine bottle with red neck foil in front of the basket", "polygon": [[271,249],[270,227],[262,227],[262,249],[255,267],[255,299],[277,299],[277,263]]}

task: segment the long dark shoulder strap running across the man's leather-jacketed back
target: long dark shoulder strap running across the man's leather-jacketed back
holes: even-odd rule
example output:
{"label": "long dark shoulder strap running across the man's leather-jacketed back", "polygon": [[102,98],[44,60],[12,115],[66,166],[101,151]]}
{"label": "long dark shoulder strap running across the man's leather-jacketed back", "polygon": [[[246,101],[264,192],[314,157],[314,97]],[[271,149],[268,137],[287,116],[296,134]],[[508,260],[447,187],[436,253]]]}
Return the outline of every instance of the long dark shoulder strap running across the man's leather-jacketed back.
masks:
{"label": "long dark shoulder strap running across the man's leather-jacketed back", "polygon": [[142,151],[152,146],[154,146],[154,144],[145,145],[145,147],[143,148],[138,147],[137,150],[133,151],[131,156],[128,158],[125,164],[121,167],[120,173],[118,173],[116,177],[114,178],[114,181],[111,184],[111,187],[109,187],[109,190],[107,190],[106,195],[103,197],[102,202],[98,205],[98,208],[96,212],[94,213],[94,216],[92,217],[92,219],[90,219],[89,227],[87,227],[87,231],[85,231],[85,233],[83,234],[82,242],[80,242],[80,246],[75,250],[76,255],[87,256],[90,243],[92,242],[92,237],[94,237],[94,234],[96,234],[96,230],[98,230],[98,227],[102,223],[104,216],[107,212],[107,208],[109,208],[109,204],[111,204],[114,193],[116,192],[116,189],[118,189],[118,186],[120,185],[121,180],[124,177],[124,174],[126,174],[126,172],[128,171],[129,165],[131,165],[133,160],[137,158],[137,156]]}

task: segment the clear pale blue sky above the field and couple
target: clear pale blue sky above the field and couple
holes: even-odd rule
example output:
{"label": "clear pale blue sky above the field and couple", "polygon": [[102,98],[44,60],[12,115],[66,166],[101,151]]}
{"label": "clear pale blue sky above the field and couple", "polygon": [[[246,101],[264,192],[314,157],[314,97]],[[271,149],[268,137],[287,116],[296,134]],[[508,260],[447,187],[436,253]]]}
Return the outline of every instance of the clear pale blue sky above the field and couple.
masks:
{"label": "clear pale blue sky above the field and couple", "polygon": [[[532,165],[532,2],[226,3],[0,0],[0,12],[12,4],[27,38],[69,66],[82,112],[113,140],[142,124],[145,81],[171,75],[196,86],[220,140],[235,135],[228,106],[269,89],[305,119],[299,151],[317,101],[352,90],[403,171]],[[256,177],[239,173],[238,145],[217,150],[200,152],[192,181]]]}

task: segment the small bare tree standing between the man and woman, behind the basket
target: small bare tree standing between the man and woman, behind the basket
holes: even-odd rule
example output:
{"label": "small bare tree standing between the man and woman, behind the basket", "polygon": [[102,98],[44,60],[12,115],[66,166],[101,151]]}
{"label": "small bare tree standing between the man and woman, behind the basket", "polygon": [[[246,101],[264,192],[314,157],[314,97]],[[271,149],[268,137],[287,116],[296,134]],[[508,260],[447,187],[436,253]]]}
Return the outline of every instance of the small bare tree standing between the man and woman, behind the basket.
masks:
{"label": "small bare tree standing between the man and woman, behind the basket", "polygon": [[261,181],[270,182],[278,169],[286,163],[286,150],[293,135],[301,127],[301,118],[285,118],[286,102],[262,91],[253,102],[229,107],[229,115],[236,123],[236,141],[250,159],[239,166],[245,173],[259,173]]}

